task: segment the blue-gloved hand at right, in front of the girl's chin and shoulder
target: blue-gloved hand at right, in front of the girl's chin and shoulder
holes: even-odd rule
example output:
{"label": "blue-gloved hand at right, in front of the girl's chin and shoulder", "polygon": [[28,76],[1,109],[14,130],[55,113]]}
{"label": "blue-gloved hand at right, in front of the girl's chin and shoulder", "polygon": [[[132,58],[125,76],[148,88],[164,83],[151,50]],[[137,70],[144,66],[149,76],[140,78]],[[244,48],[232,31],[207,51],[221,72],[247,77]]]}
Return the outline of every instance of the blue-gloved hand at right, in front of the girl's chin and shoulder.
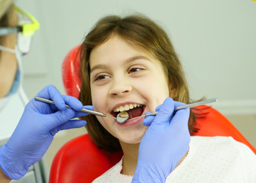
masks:
{"label": "blue-gloved hand at right, in front of the girl's chin and shoulder", "polygon": [[138,164],[133,183],[165,182],[170,172],[188,152],[190,109],[173,111],[183,103],[167,98],[156,108],[156,116],[147,116],[143,124],[149,126],[138,151]]}

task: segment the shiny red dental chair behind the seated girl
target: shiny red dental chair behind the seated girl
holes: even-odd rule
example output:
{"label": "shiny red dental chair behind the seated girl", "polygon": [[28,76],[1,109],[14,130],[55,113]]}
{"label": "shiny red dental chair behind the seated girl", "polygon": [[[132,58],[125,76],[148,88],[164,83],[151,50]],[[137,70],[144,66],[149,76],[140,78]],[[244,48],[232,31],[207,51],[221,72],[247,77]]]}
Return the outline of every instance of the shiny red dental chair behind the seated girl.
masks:
{"label": "shiny red dental chair behind the seated girl", "polygon": [[[70,50],[63,60],[62,74],[66,95],[78,98],[79,95],[79,46]],[[76,57],[77,55],[77,57]],[[235,140],[245,143],[256,154],[256,149],[244,136],[214,108],[205,108],[205,118],[199,118],[196,136],[232,136]],[[195,108],[195,109],[196,109]],[[99,149],[88,134],[78,136],[64,144],[53,159],[50,169],[50,183],[92,182],[122,158],[122,152],[108,154]]]}

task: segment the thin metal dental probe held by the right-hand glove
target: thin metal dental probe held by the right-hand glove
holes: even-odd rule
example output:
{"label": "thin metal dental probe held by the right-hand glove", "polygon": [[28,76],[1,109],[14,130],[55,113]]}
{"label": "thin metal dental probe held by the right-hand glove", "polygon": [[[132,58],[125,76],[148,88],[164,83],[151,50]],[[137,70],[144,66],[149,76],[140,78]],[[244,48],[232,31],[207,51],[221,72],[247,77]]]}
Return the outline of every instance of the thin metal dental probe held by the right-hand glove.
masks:
{"label": "thin metal dental probe held by the right-hand glove", "polygon": [[[180,105],[180,106],[174,108],[174,111],[178,111],[178,110],[184,109],[184,108],[192,108],[192,107],[196,107],[196,106],[199,106],[199,105],[202,105],[202,104],[209,104],[209,103],[212,103],[212,102],[215,102],[215,101],[218,101],[218,98],[211,98],[211,99],[207,99],[207,100],[204,100],[204,101],[196,101],[196,102],[193,102],[191,104]],[[139,116],[139,117],[154,116],[157,113],[158,113],[158,111],[154,111],[154,112],[151,112],[149,114],[145,114],[145,115],[142,115],[142,116]],[[139,118],[139,117],[132,117],[129,120],[134,120],[134,119]]]}

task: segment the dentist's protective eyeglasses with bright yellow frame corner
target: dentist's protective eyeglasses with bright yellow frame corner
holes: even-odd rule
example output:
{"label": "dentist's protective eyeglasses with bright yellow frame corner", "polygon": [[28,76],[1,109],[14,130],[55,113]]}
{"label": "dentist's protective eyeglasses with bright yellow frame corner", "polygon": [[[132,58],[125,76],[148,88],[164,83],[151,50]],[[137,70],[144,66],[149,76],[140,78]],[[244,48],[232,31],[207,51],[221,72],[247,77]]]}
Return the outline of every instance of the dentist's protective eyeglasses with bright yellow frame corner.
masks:
{"label": "dentist's protective eyeglasses with bright yellow frame corner", "polygon": [[26,54],[31,48],[31,39],[34,31],[39,29],[39,23],[33,15],[15,6],[19,23],[15,27],[0,27],[0,37],[8,34],[17,34],[17,46],[21,53]]}

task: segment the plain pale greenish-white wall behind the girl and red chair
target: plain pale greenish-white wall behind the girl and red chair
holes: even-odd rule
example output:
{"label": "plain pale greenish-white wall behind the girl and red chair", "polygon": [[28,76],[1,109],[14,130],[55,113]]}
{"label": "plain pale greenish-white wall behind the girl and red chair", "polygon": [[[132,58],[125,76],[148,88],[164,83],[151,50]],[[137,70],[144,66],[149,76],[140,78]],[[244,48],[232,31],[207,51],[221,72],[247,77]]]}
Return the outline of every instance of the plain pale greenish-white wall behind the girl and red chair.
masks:
{"label": "plain pale greenish-white wall behind the girl and red chair", "polygon": [[[24,56],[24,90],[32,98],[47,84],[63,92],[61,63],[99,18],[146,14],[167,30],[193,99],[219,98],[223,114],[256,113],[256,2],[251,0],[22,0],[41,29]],[[64,92],[63,92],[64,93]]]}

